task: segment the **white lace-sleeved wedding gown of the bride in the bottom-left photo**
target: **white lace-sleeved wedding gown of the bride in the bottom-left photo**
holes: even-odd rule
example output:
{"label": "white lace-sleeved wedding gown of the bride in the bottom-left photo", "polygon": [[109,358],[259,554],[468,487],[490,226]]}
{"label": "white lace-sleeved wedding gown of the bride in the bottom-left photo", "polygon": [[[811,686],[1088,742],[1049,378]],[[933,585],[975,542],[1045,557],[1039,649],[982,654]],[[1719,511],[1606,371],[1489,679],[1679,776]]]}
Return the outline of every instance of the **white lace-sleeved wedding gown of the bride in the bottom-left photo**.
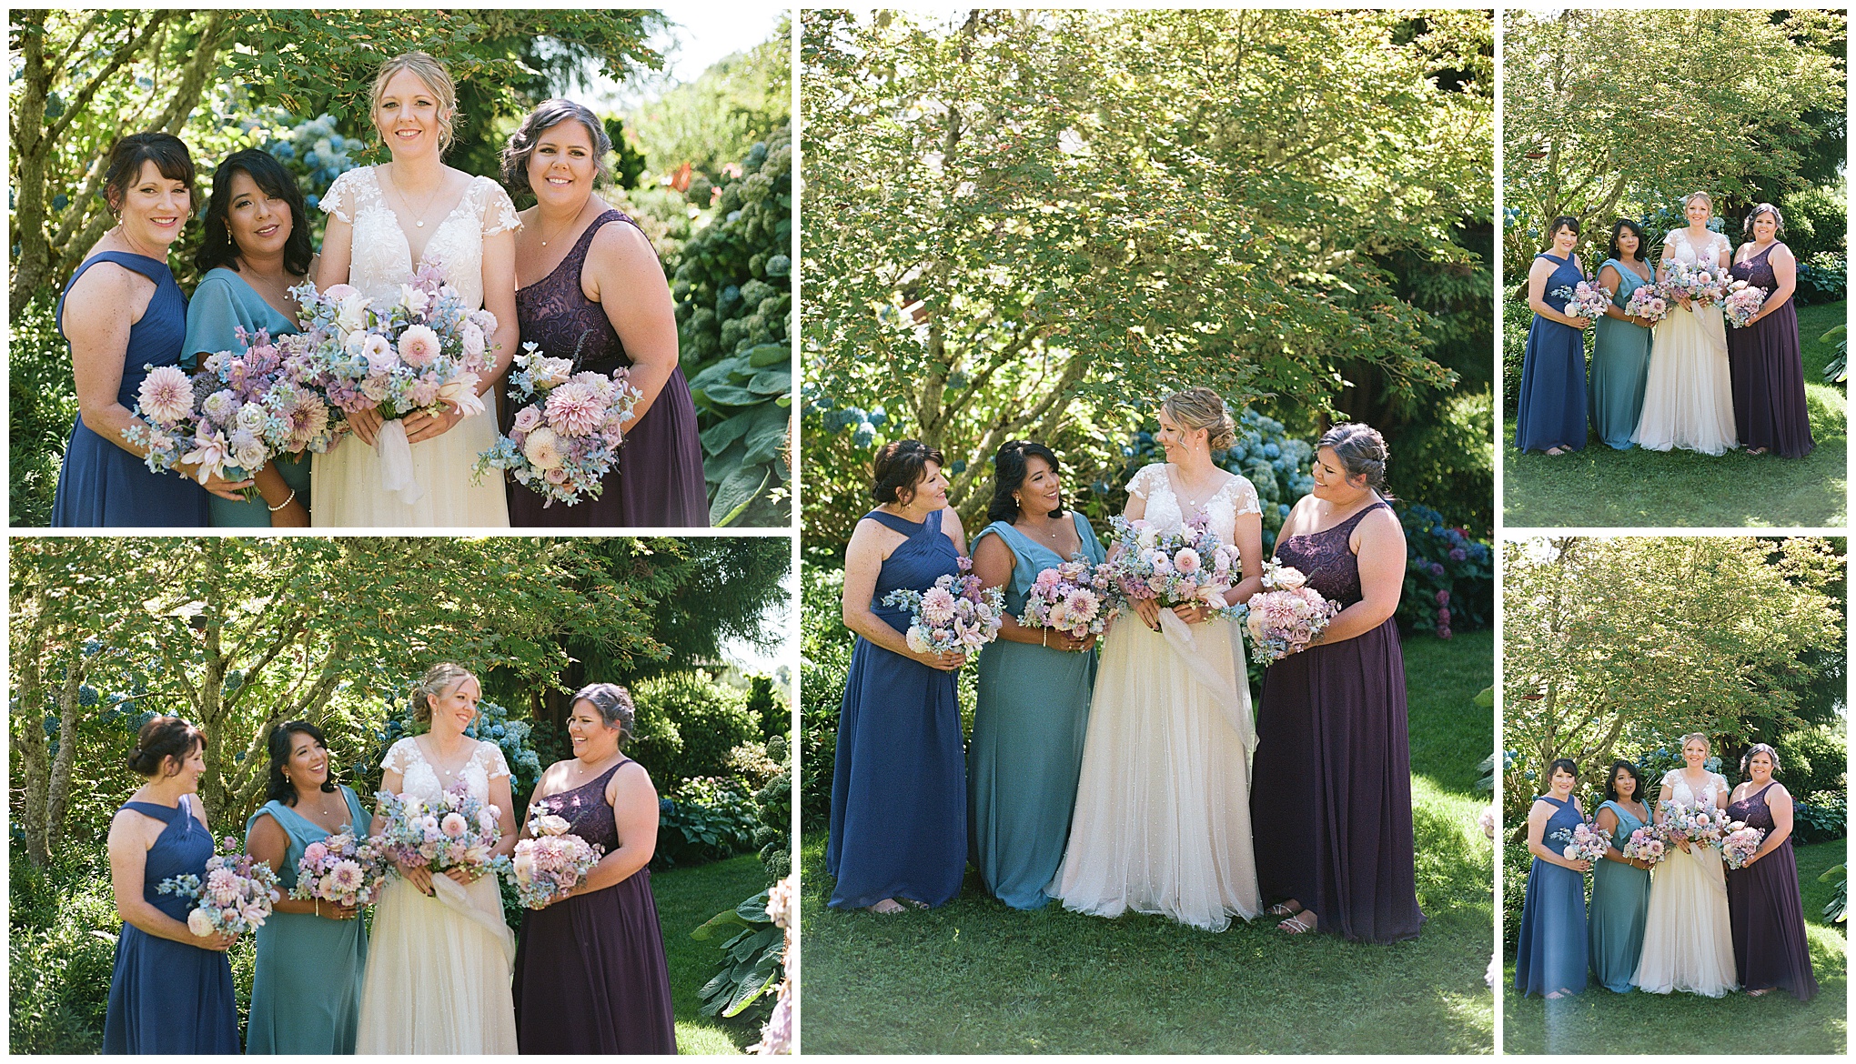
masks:
{"label": "white lace-sleeved wedding gown of the bride in the bottom-left photo", "polygon": [[[421,801],[438,801],[445,784],[462,782],[488,804],[490,780],[509,777],[503,751],[483,741],[445,784],[412,738],[393,743],[380,767],[401,773],[401,792]],[[470,886],[434,875],[432,888],[438,895],[427,897],[395,875],[380,892],[354,1051],[516,1053],[516,1003],[509,988],[516,936],[503,923],[496,875]]]}

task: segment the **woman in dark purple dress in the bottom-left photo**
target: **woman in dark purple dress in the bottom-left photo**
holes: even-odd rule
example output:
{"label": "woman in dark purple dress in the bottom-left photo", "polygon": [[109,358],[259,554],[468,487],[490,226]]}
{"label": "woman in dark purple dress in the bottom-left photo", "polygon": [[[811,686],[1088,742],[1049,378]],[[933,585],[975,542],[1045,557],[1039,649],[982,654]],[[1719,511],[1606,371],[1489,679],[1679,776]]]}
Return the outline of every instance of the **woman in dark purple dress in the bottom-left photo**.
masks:
{"label": "woman in dark purple dress in the bottom-left photo", "polygon": [[514,990],[522,1053],[677,1051],[670,968],[646,868],[657,849],[657,790],[618,751],[631,721],[625,688],[575,691],[574,758],[549,766],[529,799],[525,821],[564,817],[572,834],[605,856],[566,899],[522,912]]}

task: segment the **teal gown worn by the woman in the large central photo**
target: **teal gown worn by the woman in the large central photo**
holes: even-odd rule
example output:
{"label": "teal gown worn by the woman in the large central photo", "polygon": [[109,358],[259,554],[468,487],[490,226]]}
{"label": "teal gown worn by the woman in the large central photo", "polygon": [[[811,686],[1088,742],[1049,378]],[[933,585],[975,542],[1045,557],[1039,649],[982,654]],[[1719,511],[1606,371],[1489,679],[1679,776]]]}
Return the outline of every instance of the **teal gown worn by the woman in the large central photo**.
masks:
{"label": "teal gown worn by the woman in the large central photo", "polygon": [[[1071,512],[1084,562],[1106,554],[1089,521]],[[999,536],[1012,556],[1006,608],[1025,612],[1025,593],[1043,569],[1067,558],[1030,539],[1004,521],[978,536]],[[1043,908],[1043,892],[1069,842],[1069,816],[1082,773],[1082,738],[1095,690],[1095,651],[1052,651],[1036,643],[995,640],[980,651],[980,697],[967,749],[967,810],[973,866],[999,901],[1012,908]]]}

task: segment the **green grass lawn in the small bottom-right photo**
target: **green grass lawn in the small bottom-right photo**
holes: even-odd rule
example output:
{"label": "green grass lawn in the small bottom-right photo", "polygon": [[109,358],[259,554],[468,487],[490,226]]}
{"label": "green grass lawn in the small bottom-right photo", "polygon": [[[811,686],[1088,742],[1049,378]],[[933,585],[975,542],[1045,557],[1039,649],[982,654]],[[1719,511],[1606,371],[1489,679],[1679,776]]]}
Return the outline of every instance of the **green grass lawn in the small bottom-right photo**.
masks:
{"label": "green grass lawn in the small bottom-right photo", "polygon": [[[1817,877],[1847,855],[1847,840],[1798,847],[1804,931],[1811,938],[1817,997],[1798,1001],[1774,990],[1761,997],[1728,994],[1613,994],[1602,986],[1578,997],[1544,1001],[1509,990],[1502,999],[1507,1053],[1836,1053],[1849,1045],[1849,931],[1824,923],[1832,884]],[[1507,984],[1514,986],[1514,958]],[[1737,1038],[1743,1032],[1745,1038]]]}

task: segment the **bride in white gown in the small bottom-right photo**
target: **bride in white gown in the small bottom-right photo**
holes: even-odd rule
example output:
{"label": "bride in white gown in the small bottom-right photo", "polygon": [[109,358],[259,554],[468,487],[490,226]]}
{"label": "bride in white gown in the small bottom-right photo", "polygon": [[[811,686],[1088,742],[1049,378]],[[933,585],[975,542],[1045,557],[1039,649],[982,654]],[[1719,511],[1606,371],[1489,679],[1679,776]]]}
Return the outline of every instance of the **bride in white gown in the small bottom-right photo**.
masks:
{"label": "bride in white gown in the small bottom-right photo", "polygon": [[[1708,736],[1682,736],[1685,767],[1663,777],[1656,795],[1656,823],[1665,801],[1696,808],[1724,808],[1728,780],[1702,767]],[[1726,868],[1711,845],[1682,843],[1650,877],[1650,912],[1643,929],[1643,956],[1631,981],[1650,994],[1685,990],[1721,997],[1739,986],[1734,971],[1734,929],[1728,918]]]}

